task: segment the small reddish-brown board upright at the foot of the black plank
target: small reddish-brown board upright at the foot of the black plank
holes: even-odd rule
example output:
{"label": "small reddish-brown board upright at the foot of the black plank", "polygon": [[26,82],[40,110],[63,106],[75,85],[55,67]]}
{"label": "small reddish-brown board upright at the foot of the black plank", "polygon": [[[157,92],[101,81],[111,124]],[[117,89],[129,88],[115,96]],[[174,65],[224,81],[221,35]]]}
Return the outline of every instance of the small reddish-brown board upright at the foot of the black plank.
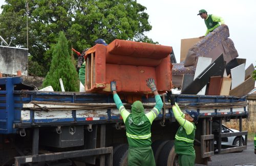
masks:
{"label": "small reddish-brown board upright at the foot of the black plank", "polygon": [[221,85],[222,85],[221,76],[210,77],[210,83],[209,83],[207,95],[220,95]]}

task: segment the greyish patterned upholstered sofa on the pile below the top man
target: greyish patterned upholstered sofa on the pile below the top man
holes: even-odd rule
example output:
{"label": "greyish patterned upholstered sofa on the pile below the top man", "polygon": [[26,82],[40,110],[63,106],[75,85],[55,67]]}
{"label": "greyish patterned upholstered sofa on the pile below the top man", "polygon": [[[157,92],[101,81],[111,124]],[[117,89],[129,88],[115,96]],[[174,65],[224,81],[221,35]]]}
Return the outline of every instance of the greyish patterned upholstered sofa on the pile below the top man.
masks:
{"label": "greyish patterned upholstered sofa on the pile below the top man", "polygon": [[238,52],[233,41],[228,38],[228,26],[219,26],[202,40],[193,45],[187,53],[186,59],[173,64],[173,86],[180,87],[183,74],[195,74],[198,57],[212,58],[214,62],[220,54],[223,54],[226,64],[238,57]]}

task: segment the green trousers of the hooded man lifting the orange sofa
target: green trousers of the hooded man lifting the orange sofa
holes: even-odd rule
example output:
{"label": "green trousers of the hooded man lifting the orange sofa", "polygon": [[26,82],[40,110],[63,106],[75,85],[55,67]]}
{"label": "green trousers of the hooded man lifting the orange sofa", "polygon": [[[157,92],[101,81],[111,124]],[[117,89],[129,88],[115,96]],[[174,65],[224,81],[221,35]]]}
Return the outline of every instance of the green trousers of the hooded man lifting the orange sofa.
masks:
{"label": "green trousers of the hooded man lifting the orange sofa", "polygon": [[128,165],[144,165],[144,166],[155,166],[155,158],[151,147],[141,147],[128,149]]}

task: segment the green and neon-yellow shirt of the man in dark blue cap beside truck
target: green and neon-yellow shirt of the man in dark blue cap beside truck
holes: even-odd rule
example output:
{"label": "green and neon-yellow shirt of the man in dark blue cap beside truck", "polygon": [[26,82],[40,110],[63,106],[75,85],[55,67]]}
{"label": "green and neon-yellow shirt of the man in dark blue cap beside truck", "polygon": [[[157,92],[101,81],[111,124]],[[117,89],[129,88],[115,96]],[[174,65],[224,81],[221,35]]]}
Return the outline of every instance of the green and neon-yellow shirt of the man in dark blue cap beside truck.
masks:
{"label": "green and neon-yellow shirt of the man in dark blue cap beside truck", "polygon": [[196,133],[195,123],[184,119],[185,115],[181,112],[177,103],[173,107],[175,119],[179,122],[180,127],[175,135],[175,152],[177,154],[196,155],[194,149],[194,140]]}

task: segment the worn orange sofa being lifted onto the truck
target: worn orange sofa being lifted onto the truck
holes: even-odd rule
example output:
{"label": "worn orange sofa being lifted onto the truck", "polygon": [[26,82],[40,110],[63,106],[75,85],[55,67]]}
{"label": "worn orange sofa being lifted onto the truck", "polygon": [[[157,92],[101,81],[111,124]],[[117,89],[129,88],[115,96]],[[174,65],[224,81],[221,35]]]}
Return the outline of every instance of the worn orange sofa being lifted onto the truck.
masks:
{"label": "worn orange sofa being lifted onto the truck", "polygon": [[111,92],[110,82],[117,82],[117,92],[149,94],[147,78],[154,78],[159,93],[172,87],[172,47],[142,42],[114,40],[108,46],[96,44],[86,60],[86,92]]}

